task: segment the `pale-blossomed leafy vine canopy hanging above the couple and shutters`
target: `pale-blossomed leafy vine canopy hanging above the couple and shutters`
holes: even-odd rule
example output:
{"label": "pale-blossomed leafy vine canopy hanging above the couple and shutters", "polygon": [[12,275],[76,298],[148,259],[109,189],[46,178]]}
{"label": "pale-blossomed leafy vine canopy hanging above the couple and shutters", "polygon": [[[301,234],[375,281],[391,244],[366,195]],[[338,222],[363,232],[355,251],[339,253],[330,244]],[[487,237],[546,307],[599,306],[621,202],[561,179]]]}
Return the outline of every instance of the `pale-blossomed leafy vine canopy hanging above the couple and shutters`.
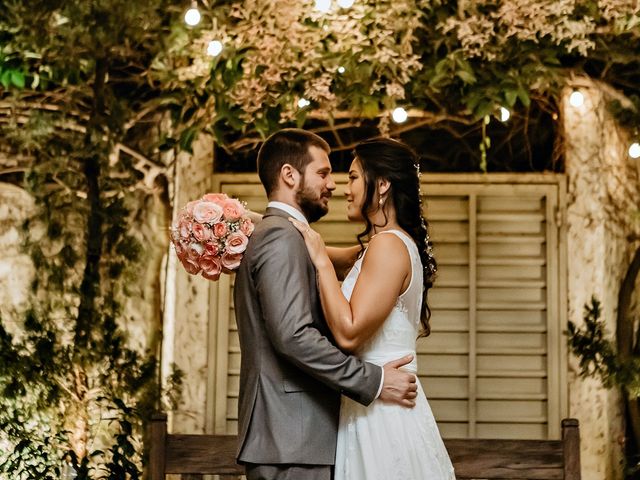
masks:
{"label": "pale-blossomed leafy vine canopy hanging above the couple and shutters", "polygon": [[[526,115],[531,102],[557,104],[549,99],[580,75],[627,95],[624,106],[612,102],[620,118],[640,107],[633,1],[405,0],[319,13],[313,2],[253,0],[212,5],[204,18],[169,38],[153,76],[193,86],[179,117],[222,143],[241,132],[232,148],[314,112],[329,123],[336,112],[380,116],[382,133],[393,131],[397,105],[428,112],[432,124],[477,122],[499,106]],[[224,45],[218,57],[206,54],[211,40]],[[300,98],[311,106],[298,107]]]}

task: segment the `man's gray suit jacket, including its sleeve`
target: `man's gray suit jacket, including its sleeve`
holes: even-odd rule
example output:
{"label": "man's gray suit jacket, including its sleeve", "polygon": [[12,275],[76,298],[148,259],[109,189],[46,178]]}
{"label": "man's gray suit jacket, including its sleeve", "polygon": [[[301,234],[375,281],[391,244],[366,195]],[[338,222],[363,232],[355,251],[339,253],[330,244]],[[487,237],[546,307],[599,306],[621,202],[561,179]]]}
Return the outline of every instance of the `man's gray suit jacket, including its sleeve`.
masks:
{"label": "man's gray suit jacket, including its sleeve", "polygon": [[368,405],[382,369],[334,345],[315,268],[288,217],[267,209],[236,276],[238,461],[332,465],[340,394]]}

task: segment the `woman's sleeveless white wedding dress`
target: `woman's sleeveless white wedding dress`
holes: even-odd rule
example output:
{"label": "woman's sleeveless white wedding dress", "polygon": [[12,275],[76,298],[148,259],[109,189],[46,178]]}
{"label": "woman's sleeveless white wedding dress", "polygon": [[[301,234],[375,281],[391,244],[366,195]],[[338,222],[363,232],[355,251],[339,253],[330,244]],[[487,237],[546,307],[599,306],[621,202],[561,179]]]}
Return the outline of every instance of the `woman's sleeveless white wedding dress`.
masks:
{"label": "woman's sleeveless white wedding dress", "polygon": [[[414,360],[404,369],[417,373],[416,338],[420,328],[422,264],[418,248],[405,233],[387,230],[405,243],[411,256],[411,283],[380,330],[356,355],[383,365],[407,354]],[[366,255],[366,251],[365,251]],[[342,284],[351,298],[364,255]],[[431,408],[418,381],[414,408],[375,400],[365,407],[343,396],[336,449],[335,480],[450,480],[453,466]]]}

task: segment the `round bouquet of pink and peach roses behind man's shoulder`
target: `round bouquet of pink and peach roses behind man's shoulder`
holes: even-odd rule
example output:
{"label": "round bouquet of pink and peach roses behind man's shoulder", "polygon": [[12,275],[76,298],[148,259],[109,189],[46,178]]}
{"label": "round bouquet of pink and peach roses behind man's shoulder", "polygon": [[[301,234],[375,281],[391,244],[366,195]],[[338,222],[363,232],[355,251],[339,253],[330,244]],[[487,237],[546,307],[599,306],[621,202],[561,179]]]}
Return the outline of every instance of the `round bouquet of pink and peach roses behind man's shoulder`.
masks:
{"label": "round bouquet of pink and peach roses behind man's shoulder", "polygon": [[253,233],[244,205],[224,193],[187,203],[171,228],[178,259],[191,275],[218,280],[240,266]]}

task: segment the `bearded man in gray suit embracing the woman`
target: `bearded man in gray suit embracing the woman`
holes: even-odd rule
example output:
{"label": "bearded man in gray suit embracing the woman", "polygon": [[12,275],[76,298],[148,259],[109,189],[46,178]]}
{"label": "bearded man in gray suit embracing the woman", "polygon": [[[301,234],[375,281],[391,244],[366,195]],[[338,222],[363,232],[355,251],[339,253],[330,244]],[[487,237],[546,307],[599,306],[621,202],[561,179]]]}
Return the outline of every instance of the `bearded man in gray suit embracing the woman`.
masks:
{"label": "bearded man in gray suit embracing the woman", "polygon": [[242,351],[238,462],[248,480],[330,480],[340,394],[413,406],[416,379],[358,360],[333,343],[322,315],[316,272],[300,232],[315,222],[332,191],[329,145],[299,129],[269,137],[258,173],[269,204],[237,273],[235,309]]}

